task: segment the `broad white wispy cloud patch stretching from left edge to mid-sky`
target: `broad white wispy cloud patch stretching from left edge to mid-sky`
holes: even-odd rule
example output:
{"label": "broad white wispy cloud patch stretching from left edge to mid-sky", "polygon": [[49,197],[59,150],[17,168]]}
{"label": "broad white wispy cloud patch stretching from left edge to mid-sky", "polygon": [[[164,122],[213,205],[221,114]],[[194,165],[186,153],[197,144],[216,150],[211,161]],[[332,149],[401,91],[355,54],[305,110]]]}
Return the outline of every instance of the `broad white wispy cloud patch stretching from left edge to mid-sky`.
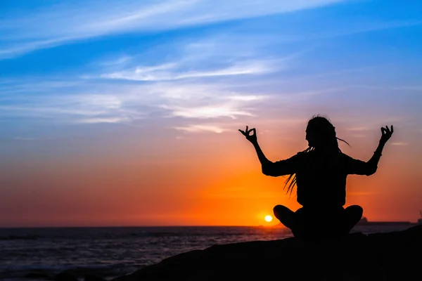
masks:
{"label": "broad white wispy cloud patch stretching from left edge to mid-sky", "polygon": [[[232,39],[236,40],[236,36]],[[70,81],[32,79],[0,84],[0,92],[15,97],[15,103],[0,106],[0,114],[51,117],[81,124],[130,124],[152,115],[186,120],[253,117],[250,105],[271,98],[260,89],[262,74],[286,70],[295,58],[294,54],[262,56],[254,40],[250,37],[238,48],[234,48],[236,42],[220,41],[219,37],[178,41],[165,46],[164,51],[177,50],[170,59],[161,55],[163,46],[155,46],[148,51],[148,55],[155,54],[153,60],[143,53],[120,53],[115,59],[89,66],[97,67],[100,73],[109,71],[103,74],[82,74]],[[252,81],[255,85],[248,89]],[[181,128],[199,129],[189,125]],[[215,127],[200,129],[219,131]]]}

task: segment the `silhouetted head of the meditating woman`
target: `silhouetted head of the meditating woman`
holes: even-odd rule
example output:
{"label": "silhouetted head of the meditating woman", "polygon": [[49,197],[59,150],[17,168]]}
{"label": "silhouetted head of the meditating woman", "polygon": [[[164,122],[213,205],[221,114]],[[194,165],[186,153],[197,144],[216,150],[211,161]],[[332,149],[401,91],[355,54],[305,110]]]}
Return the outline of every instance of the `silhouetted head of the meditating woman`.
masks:
{"label": "silhouetted head of the meditating woman", "polygon": [[309,120],[306,140],[309,148],[338,148],[335,127],[325,117],[316,116]]}

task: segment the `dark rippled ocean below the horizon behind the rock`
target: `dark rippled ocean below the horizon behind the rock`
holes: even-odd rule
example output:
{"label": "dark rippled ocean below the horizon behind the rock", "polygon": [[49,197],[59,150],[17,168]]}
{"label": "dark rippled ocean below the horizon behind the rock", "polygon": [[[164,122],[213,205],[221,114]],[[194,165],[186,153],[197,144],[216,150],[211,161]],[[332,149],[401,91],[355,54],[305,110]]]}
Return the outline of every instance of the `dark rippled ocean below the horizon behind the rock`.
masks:
{"label": "dark rippled ocean below the horizon behind the rock", "polygon": [[[357,226],[365,234],[409,226]],[[0,228],[0,280],[41,281],[68,270],[110,280],[175,254],[215,244],[292,237],[281,227]]]}

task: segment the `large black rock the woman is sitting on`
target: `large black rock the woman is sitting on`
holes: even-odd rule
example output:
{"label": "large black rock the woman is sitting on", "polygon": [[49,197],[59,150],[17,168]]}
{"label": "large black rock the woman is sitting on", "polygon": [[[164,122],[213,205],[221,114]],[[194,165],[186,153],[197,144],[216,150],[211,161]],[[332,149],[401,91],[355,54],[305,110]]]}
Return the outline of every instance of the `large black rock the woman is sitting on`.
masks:
{"label": "large black rock the woman is sitting on", "polygon": [[240,242],[188,251],[112,281],[419,280],[421,249],[422,226],[319,242]]}

